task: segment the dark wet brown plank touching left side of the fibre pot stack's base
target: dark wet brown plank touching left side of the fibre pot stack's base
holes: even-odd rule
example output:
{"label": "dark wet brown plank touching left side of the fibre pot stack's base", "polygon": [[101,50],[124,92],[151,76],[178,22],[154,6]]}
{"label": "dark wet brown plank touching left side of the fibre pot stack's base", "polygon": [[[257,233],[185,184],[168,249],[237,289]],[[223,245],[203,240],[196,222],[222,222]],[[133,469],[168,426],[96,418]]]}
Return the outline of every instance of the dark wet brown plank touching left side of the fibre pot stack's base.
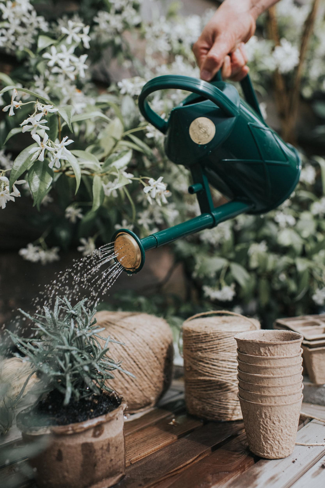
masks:
{"label": "dark wet brown plank touching left side of the fibre pot stack's base", "polygon": [[173,479],[155,485],[155,488],[223,487],[226,481],[248,469],[254,462],[243,432]]}

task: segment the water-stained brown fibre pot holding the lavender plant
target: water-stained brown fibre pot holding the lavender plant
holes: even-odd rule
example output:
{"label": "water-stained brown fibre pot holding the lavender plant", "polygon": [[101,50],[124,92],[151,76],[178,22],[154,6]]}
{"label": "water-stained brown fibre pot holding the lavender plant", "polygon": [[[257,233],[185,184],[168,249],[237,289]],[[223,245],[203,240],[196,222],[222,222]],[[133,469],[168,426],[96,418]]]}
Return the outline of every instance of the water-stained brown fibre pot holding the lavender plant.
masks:
{"label": "water-stained brown fibre pot holding the lavender plant", "polygon": [[26,427],[26,408],[17,416],[22,437],[48,437],[48,447],[30,460],[40,488],[108,488],[125,474],[124,409],[64,426]]}

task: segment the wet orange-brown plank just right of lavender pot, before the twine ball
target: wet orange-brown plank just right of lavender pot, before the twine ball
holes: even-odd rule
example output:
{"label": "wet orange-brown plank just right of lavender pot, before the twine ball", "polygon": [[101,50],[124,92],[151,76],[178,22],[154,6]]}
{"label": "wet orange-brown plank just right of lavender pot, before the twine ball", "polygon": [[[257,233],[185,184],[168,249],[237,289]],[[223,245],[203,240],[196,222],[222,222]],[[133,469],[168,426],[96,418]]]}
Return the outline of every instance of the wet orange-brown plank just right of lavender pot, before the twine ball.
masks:
{"label": "wet orange-brown plank just right of lavender pot, before the twine ball", "polygon": [[187,415],[172,413],[153,426],[134,432],[125,439],[126,466],[172,444],[197,427],[202,427],[202,421]]}

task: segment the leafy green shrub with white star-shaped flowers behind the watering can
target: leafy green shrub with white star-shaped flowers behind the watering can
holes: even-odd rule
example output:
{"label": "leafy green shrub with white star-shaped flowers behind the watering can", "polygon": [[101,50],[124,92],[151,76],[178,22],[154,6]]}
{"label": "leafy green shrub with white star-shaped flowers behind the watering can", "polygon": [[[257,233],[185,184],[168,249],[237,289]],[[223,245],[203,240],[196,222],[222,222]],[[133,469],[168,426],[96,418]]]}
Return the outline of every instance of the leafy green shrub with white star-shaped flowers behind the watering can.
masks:
{"label": "leafy green shrub with white star-shaped flowers behind the watering can", "polygon": [[[180,17],[172,6],[162,17],[154,3],[150,21],[142,20],[140,0],[82,0],[78,13],[51,21],[27,0],[0,0],[0,49],[22,66],[0,73],[6,114],[0,122],[1,211],[19,196],[15,184],[23,184],[26,198],[31,195],[41,210],[39,222],[48,223],[37,242],[19,251],[24,259],[44,264],[77,245],[85,255],[121,226],[142,237],[198,214],[187,191],[188,171],[167,160],[163,135],[141,117],[137,96],[154,76],[199,76],[191,45],[212,11]],[[293,0],[276,8],[279,43],[256,36],[248,43],[261,94],[274,72],[292,80],[310,11]],[[266,21],[261,18],[260,31]],[[324,27],[320,14],[309,42],[304,96],[324,90]],[[103,89],[92,73],[105,73],[110,59],[134,76]],[[184,96],[157,92],[151,104],[166,117]],[[173,244],[201,300],[244,307],[269,321],[324,305],[325,162],[305,160],[301,183],[281,208],[264,217],[241,215]],[[220,200],[216,192],[214,200]]]}

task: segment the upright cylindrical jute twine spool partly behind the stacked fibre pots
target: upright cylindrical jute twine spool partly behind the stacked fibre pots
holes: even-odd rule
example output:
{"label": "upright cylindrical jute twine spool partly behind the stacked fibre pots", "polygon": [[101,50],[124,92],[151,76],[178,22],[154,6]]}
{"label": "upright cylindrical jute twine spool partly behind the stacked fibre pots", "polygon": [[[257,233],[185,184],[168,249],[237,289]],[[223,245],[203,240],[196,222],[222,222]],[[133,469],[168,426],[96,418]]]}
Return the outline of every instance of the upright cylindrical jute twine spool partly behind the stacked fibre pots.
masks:
{"label": "upright cylindrical jute twine spool partly behind the stacked fibre pots", "polygon": [[[220,317],[209,317],[220,314]],[[237,397],[238,332],[261,328],[258,320],[226,310],[196,314],[182,327],[185,401],[189,413],[207,420],[240,420]]]}

